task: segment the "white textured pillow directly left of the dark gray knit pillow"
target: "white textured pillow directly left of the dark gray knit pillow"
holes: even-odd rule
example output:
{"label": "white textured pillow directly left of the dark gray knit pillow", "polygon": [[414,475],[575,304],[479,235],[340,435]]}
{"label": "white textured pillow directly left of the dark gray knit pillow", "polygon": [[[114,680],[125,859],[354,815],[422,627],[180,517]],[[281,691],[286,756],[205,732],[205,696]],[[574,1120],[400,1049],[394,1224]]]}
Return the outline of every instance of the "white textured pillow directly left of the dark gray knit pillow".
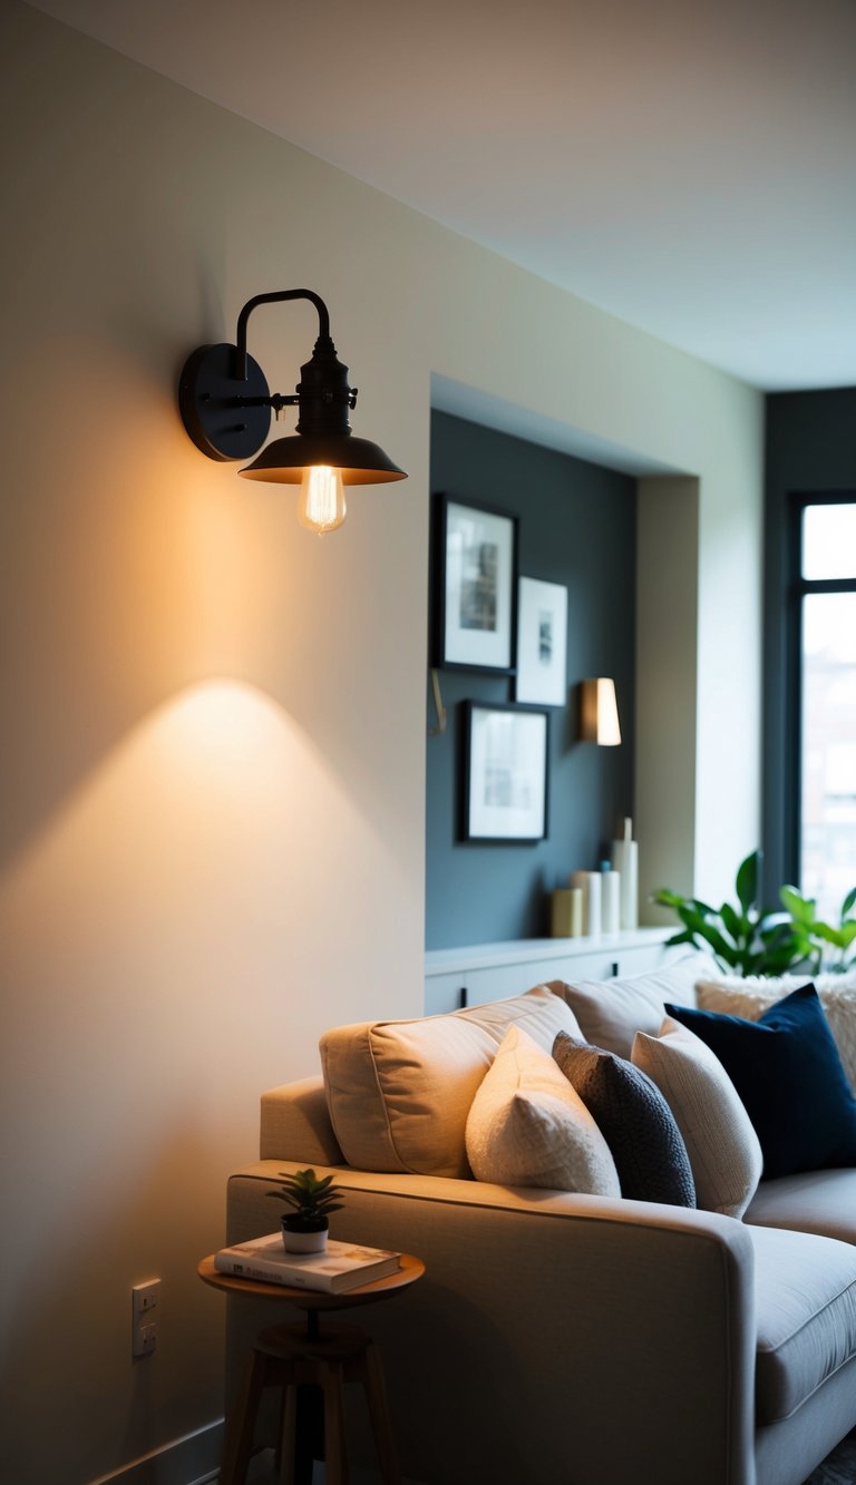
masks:
{"label": "white textured pillow directly left of the dark gray knit pillow", "polygon": [[473,1100],[467,1157],[477,1181],[621,1194],[609,1146],[553,1057],[511,1026]]}

